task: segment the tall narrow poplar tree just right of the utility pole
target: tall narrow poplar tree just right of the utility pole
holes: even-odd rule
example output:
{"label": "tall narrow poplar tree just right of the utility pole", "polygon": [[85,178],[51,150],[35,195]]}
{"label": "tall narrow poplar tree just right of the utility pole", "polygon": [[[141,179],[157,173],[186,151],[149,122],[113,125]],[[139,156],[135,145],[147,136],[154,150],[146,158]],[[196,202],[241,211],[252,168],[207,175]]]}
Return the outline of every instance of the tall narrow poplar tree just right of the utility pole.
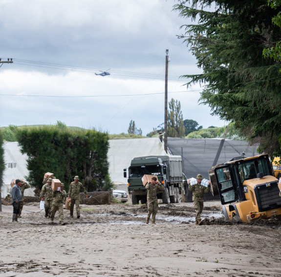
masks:
{"label": "tall narrow poplar tree just right of the utility pole", "polygon": [[184,138],[184,123],[180,101],[171,99],[167,119],[168,137]]}

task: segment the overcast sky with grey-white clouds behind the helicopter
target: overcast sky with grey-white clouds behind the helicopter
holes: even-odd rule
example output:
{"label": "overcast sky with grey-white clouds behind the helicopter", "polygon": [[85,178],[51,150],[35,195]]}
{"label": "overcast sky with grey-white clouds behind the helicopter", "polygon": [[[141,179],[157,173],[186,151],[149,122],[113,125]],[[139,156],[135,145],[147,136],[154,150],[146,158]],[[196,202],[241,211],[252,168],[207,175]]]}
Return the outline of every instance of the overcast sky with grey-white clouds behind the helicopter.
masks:
{"label": "overcast sky with grey-white clouds behind the helicopter", "polygon": [[[147,135],[164,122],[168,101],[184,119],[207,128],[226,122],[198,105],[181,75],[200,73],[182,40],[188,23],[175,0],[1,0],[0,126],[56,124],[127,133],[130,120]],[[94,73],[106,71],[108,76]]]}

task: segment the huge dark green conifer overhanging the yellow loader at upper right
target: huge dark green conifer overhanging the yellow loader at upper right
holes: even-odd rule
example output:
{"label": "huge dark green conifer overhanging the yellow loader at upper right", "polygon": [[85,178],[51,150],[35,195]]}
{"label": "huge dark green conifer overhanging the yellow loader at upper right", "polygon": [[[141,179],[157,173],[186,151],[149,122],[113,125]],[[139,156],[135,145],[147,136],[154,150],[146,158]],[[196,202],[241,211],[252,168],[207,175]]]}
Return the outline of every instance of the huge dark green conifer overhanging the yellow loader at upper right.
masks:
{"label": "huge dark green conifer overhanging the yellow loader at upper right", "polygon": [[281,63],[264,59],[262,51],[281,39],[281,28],[271,20],[281,7],[272,9],[267,0],[191,0],[174,9],[198,20],[182,26],[179,36],[202,69],[184,76],[191,79],[187,85],[203,84],[200,101],[212,115],[235,122],[245,137],[259,142],[259,152],[279,156]]}

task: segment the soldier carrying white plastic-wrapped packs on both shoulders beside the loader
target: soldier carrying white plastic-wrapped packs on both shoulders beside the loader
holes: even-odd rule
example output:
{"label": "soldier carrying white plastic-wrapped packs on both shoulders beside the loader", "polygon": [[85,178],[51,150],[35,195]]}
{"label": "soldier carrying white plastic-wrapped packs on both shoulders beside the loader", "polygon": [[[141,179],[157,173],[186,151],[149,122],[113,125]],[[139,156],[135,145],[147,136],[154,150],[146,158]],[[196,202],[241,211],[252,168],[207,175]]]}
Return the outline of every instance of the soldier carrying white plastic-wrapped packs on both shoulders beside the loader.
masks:
{"label": "soldier carrying white plastic-wrapped packs on both shoulders beside the loader", "polygon": [[209,185],[208,187],[204,187],[201,185],[202,181],[202,175],[198,174],[196,177],[197,183],[194,185],[190,184],[190,179],[187,180],[188,182],[188,188],[190,191],[192,191],[192,200],[193,205],[195,209],[195,225],[199,225],[201,222],[201,213],[203,210],[204,202],[203,202],[203,194],[207,193],[209,191],[209,186],[211,184],[210,181],[208,181]]}

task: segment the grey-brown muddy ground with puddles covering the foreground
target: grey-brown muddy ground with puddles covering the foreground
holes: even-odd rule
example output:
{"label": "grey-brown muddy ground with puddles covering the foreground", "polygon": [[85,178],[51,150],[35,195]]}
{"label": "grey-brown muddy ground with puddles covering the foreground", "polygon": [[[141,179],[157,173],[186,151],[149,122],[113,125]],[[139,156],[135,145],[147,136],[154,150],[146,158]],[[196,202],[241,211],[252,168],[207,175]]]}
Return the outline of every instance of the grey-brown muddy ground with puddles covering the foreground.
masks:
{"label": "grey-brown muddy ground with puddles covering the foreground", "polygon": [[0,277],[281,276],[281,221],[224,221],[220,202],[205,202],[195,226],[192,203],[81,205],[81,218],[49,224],[39,203],[0,212]]}

